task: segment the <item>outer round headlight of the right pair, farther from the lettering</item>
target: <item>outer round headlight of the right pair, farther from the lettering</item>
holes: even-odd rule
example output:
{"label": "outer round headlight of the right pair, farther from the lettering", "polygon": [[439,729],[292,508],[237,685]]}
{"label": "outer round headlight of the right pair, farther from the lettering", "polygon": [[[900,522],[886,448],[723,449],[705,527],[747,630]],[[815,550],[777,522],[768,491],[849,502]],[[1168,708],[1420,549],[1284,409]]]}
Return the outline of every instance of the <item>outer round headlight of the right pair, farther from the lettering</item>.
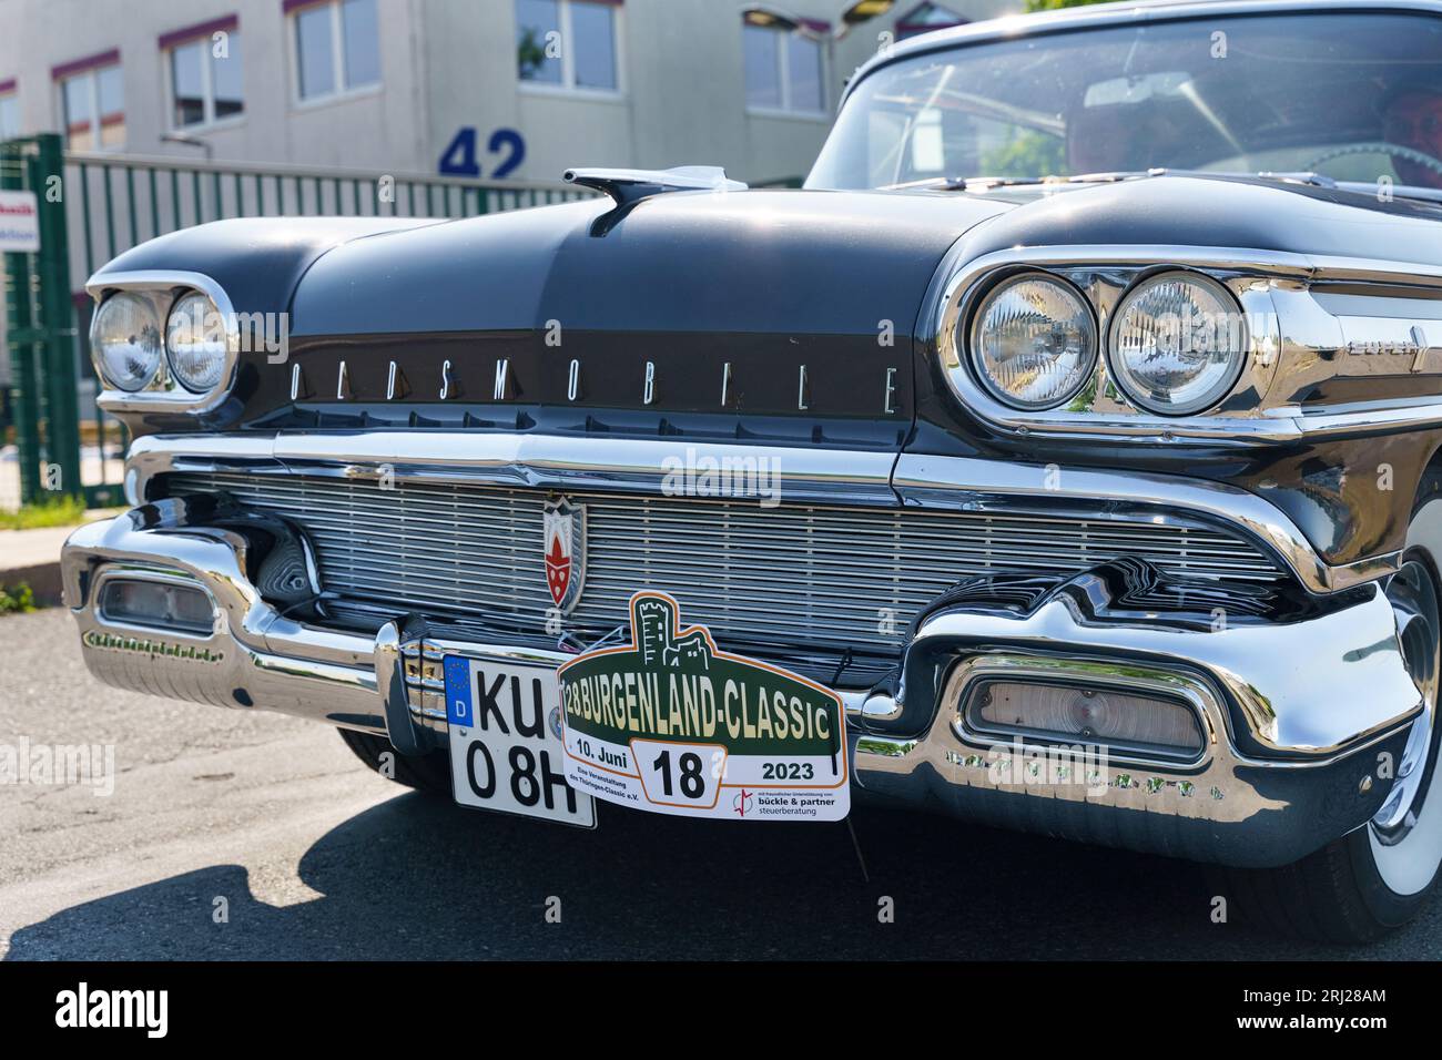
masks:
{"label": "outer round headlight of the right pair, farther from the lettering", "polygon": [[1112,376],[1149,412],[1211,408],[1236,384],[1246,350],[1246,320],[1236,300],[1195,273],[1142,280],[1112,320]]}

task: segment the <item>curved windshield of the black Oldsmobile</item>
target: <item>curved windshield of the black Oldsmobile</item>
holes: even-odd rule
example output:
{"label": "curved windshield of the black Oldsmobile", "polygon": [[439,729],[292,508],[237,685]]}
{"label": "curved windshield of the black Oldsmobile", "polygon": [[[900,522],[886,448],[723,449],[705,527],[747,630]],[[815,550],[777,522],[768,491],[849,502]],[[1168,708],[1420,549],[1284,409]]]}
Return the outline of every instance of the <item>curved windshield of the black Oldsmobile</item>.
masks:
{"label": "curved windshield of the black Oldsmobile", "polygon": [[857,87],[806,185],[1152,167],[1442,187],[1442,19],[1207,17],[920,55]]}

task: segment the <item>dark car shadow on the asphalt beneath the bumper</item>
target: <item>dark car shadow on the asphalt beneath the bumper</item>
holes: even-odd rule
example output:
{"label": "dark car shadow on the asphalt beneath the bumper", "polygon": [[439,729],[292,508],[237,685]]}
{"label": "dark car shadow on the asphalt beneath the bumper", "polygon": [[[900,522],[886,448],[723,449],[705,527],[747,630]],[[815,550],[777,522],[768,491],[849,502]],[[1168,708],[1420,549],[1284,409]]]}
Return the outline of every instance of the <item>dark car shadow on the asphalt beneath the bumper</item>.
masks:
{"label": "dark car shadow on the asphalt beneath the bumper", "polygon": [[267,904],[242,867],[213,865],[20,929],[9,959],[1324,955],[1214,923],[1204,874],[1188,862],[943,818],[858,809],[852,819],[870,881],[845,823],[606,805],[600,828],[580,831],[407,793],[306,851],[297,874],[320,897]]}

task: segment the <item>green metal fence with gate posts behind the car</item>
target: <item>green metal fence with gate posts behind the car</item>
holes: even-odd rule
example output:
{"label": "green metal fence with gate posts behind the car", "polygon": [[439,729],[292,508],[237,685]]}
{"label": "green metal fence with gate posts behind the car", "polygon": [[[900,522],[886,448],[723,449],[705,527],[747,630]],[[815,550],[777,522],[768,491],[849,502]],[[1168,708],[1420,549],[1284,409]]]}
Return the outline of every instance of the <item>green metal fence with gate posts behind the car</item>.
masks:
{"label": "green metal fence with gate posts behind the car", "polygon": [[128,438],[95,408],[84,294],[117,254],[222,218],[463,218],[591,195],[559,183],[65,153],[55,134],[0,143],[0,187],[40,199],[40,252],[4,255],[12,423],[0,428],[14,430],[26,503],[50,492],[120,502]]}

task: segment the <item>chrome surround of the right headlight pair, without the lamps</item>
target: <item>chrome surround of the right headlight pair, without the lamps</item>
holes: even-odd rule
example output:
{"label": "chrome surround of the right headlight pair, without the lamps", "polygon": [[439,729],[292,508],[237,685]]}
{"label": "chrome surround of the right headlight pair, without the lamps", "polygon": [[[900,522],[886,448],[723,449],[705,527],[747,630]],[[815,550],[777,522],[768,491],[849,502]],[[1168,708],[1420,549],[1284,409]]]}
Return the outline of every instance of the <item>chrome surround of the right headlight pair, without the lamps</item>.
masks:
{"label": "chrome surround of the right headlight pair, without the lamps", "polygon": [[[1017,247],[966,257],[957,244],[933,278],[923,307],[919,339],[934,343],[940,374],[957,404],[983,424],[1011,436],[1086,437],[1172,443],[1185,438],[1223,444],[1266,444],[1296,438],[1298,425],[1269,411],[1282,355],[1282,319],[1273,296],[1306,283],[1312,264],[1298,255],[1180,247]],[[1195,271],[1226,287],[1249,322],[1242,372],[1220,402],[1194,415],[1162,415],[1142,408],[1113,381],[1109,358],[1096,359],[1087,382],[1051,408],[1014,408],[978,378],[969,349],[969,327],[982,299],[1009,275],[1037,271],[1082,291],[1102,336],[1112,314],[1138,280],[1169,271]],[[1103,339],[1105,342],[1105,339]]]}

